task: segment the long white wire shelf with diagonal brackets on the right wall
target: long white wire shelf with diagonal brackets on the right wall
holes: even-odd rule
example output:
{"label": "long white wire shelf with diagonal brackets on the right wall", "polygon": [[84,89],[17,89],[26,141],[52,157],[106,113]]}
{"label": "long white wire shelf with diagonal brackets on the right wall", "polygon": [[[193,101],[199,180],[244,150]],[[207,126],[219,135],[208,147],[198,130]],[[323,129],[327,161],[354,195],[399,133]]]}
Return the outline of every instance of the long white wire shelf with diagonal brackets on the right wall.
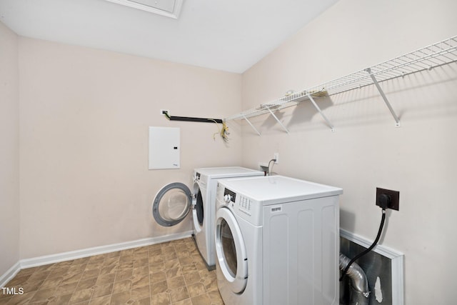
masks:
{"label": "long white wire shelf with diagonal brackets on the right wall", "polygon": [[[384,61],[381,64],[376,64],[367,69],[356,71],[353,74],[348,74],[338,79],[333,79],[332,81],[313,86],[309,89],[283,96],[281,99],[266,104],[260,104],[253,109],[248,109],[239,114],[228,116],[225,119],[227,121],[236,119],[247,120],[253,116],[268,114],[271,113],[271,111],[296,106],[301,101],[308,99],[311,100],[314,106],[316,106],[316,109],[318,109],[318,106],[313,101],[314,97],[340,94],[344,91],[358,89],[372,84],[375,84],[378,87],[383,99],[386,101],[386,104],[388,104],[386,97],[378,86],[378,82],[395,79],[419,71],[430,70],[436,66],[451,64],[456,61],[457,36],[453,36],[452,38],[439,41],[436,44],[431,44],[430,46],[425,46],[408,54]],[[389,109],[391,109],[389,104],[388,106]],[[321,112],[320,109],[318,109],[318,111]],[[323,115],[322,112],[321,115]],[[393,114],[393,116],[396,117],[395,114]],[[324,119],[326,119],[325,116]],[[396,122],[397,126],[399,126],[398,118],[396,118]],[[333,126],[331,126],[331,128],[333,131]]]}

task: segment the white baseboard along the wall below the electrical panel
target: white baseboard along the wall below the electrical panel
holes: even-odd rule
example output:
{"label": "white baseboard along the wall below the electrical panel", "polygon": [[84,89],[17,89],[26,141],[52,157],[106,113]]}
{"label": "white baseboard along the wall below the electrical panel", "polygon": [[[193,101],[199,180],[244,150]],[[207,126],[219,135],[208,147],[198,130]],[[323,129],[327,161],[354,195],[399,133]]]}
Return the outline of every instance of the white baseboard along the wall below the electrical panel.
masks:
{"label": "white baseboard along the wall below the electrical panel", "polygon": [[51,254],[46,256],[38,256],[31,259],[21,259],[14,266],[12,266],[5,274],[0,276],[0,287],[4,287],[6,283],[16,276],[16,274],[25,268],[43,266],[47,264],[59,263],[60,261],[69,261],[71,259],[81,259],[87,256],[98,254],[105,254],[114,251],[121,251],[140,246],[149,246],[151,244],[159,244],[165,241],[174,241],[176,239],[184,239],[191,236],[193,231],[186,231],[176,234],[169,234],[165,236],[151,237],[148,239],[138,239],[136,241],[126,241],[119,244],[109,244],[106,246],[96,246],[93,248],[81,249],[76,251],[63,252],[59,254]]}

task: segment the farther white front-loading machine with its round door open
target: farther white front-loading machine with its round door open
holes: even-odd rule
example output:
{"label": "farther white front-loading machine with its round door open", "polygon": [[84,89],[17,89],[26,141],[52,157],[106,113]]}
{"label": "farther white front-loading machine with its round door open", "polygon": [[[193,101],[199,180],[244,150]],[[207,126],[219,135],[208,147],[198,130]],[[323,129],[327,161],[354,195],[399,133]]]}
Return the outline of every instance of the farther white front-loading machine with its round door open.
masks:
{"label": "farther white front-loading machine with its round door open", "polygon": [[263,171],[255,171],[239,166],[206,167],[194,169],[192,191],[179,182],[167,184],[154,199],[152,213],[161,226],[174,226],[186,218],[192,210],[192,224],[197,249],[206,267],[216,268],[214,246],[214,217],[216,209],[217,179],[264,176]]}

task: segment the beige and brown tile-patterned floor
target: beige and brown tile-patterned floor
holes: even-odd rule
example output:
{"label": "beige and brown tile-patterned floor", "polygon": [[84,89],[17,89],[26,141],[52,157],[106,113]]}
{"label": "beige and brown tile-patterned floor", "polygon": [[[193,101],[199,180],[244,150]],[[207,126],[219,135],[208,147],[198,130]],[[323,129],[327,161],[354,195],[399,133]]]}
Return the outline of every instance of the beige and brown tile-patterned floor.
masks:
{"label": "beige and brown tile-patterned floor", "polygon": [[224,304],[191,238],[22,269],[3,304]]}

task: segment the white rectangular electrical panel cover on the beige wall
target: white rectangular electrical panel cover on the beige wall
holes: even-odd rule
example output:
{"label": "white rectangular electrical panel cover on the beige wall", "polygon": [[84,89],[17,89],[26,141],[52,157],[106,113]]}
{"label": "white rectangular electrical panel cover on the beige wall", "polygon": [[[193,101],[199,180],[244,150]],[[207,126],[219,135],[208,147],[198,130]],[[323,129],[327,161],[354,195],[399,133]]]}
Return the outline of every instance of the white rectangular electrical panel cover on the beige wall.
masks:
{"label": "white rectangular electrical panel cover on the beige wall", "polygon": [[179,169],[179,127],[149,127],[149,169]]}

